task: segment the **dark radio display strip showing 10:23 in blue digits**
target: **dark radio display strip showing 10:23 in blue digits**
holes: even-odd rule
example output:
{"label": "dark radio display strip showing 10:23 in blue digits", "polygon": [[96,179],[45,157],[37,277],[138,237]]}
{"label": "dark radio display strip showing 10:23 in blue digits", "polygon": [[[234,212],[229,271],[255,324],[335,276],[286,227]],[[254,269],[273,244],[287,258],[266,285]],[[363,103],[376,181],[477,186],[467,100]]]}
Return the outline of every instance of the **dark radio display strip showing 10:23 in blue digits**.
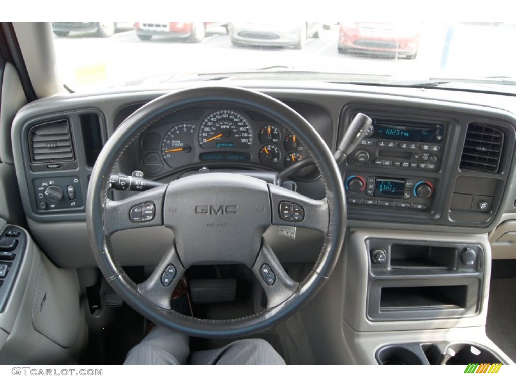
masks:
{"label": "dark radio display strip showing 10:23 in blue digits", "polygon": [[373,138],[439,143],[444,137],[443,125],[406,126],[375,120]]}

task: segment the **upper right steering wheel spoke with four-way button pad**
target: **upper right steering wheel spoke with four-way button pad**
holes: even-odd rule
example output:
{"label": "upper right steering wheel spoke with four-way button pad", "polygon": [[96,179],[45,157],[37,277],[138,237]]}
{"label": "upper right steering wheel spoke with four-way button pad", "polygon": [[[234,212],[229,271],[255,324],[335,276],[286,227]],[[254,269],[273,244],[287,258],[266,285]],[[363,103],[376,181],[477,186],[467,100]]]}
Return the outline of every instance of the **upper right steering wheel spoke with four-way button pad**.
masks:
{"label": "upper right steering wheel spoke with four-way button pad", "polygon": [[328,233],[327,199],[315,200],[300,193],[269,184],[272,224],[303,227]]}

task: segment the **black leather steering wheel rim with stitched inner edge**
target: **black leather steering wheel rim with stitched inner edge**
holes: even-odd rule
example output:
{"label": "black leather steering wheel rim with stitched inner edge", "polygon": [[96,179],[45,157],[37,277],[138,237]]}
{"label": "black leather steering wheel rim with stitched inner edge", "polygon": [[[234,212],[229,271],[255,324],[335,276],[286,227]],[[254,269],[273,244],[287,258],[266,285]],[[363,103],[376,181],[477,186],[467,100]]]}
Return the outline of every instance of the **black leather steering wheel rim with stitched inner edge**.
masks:
{"label": "black leather steering wheel rim with stitched inner edge", "polygon": [[[296,133],[309,150],[324,182],[327,203],[327,228],[319,257],[295,292],[279,305],[260,313],[230,320],[204,320],[184,316],[156,305],[143,296],[116,260],[105,231],[109,176],[123,152],[150,125],[174,112],[201,104],[236,105],[279,122]],[[181,181],[183,179],[179,179]],[[174,182],[172,182],[174,183]],[[172,184],[171,183],[171,184]],[[148,191],[150,192],[150,191]],[[158,208],[163,211],[162,208]],[[124,216],[127,217],[127,214]],[[331,151],[312,125],[295,110],[270,96],[237,87],[196,87],[163,95],[136,110],[117,128],[103,147],[93,168],[86,200],[86,221],[91,248],[103,275],[133,309],[158,325],[198,337],[239,337],[265,330],[308,302],[328,279],[340,256],[346,231],[346,205],[341,174]],[[293,224],[296,225],[296,224]]]}

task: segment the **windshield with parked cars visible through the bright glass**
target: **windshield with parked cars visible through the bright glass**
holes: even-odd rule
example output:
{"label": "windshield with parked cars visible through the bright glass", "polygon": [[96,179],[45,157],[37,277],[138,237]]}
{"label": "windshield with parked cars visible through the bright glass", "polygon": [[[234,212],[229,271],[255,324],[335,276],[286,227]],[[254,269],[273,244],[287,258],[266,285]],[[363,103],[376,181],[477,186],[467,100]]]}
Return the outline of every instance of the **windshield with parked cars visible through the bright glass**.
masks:
{"label": "windshield with parked cars visible through the bright glass", "polygon": [[52,29],[58,74],[74,91],[227,78],[516,91],[516,23],[147,20]]}

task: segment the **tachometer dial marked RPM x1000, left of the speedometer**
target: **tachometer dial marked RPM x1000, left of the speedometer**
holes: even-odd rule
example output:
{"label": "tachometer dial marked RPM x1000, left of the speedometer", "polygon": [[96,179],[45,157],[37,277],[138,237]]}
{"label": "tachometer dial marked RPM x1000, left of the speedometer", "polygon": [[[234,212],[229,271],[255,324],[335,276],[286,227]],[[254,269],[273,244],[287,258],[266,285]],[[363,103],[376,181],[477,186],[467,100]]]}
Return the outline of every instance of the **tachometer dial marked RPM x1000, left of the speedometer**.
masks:
{"label": "tachometer dial marked RPM x1000, left of the speedometer", "polygon": [[182,124],[174,126],[163,137],[162,155],[172,168],[193,162],[193,130],[195,126]]}

